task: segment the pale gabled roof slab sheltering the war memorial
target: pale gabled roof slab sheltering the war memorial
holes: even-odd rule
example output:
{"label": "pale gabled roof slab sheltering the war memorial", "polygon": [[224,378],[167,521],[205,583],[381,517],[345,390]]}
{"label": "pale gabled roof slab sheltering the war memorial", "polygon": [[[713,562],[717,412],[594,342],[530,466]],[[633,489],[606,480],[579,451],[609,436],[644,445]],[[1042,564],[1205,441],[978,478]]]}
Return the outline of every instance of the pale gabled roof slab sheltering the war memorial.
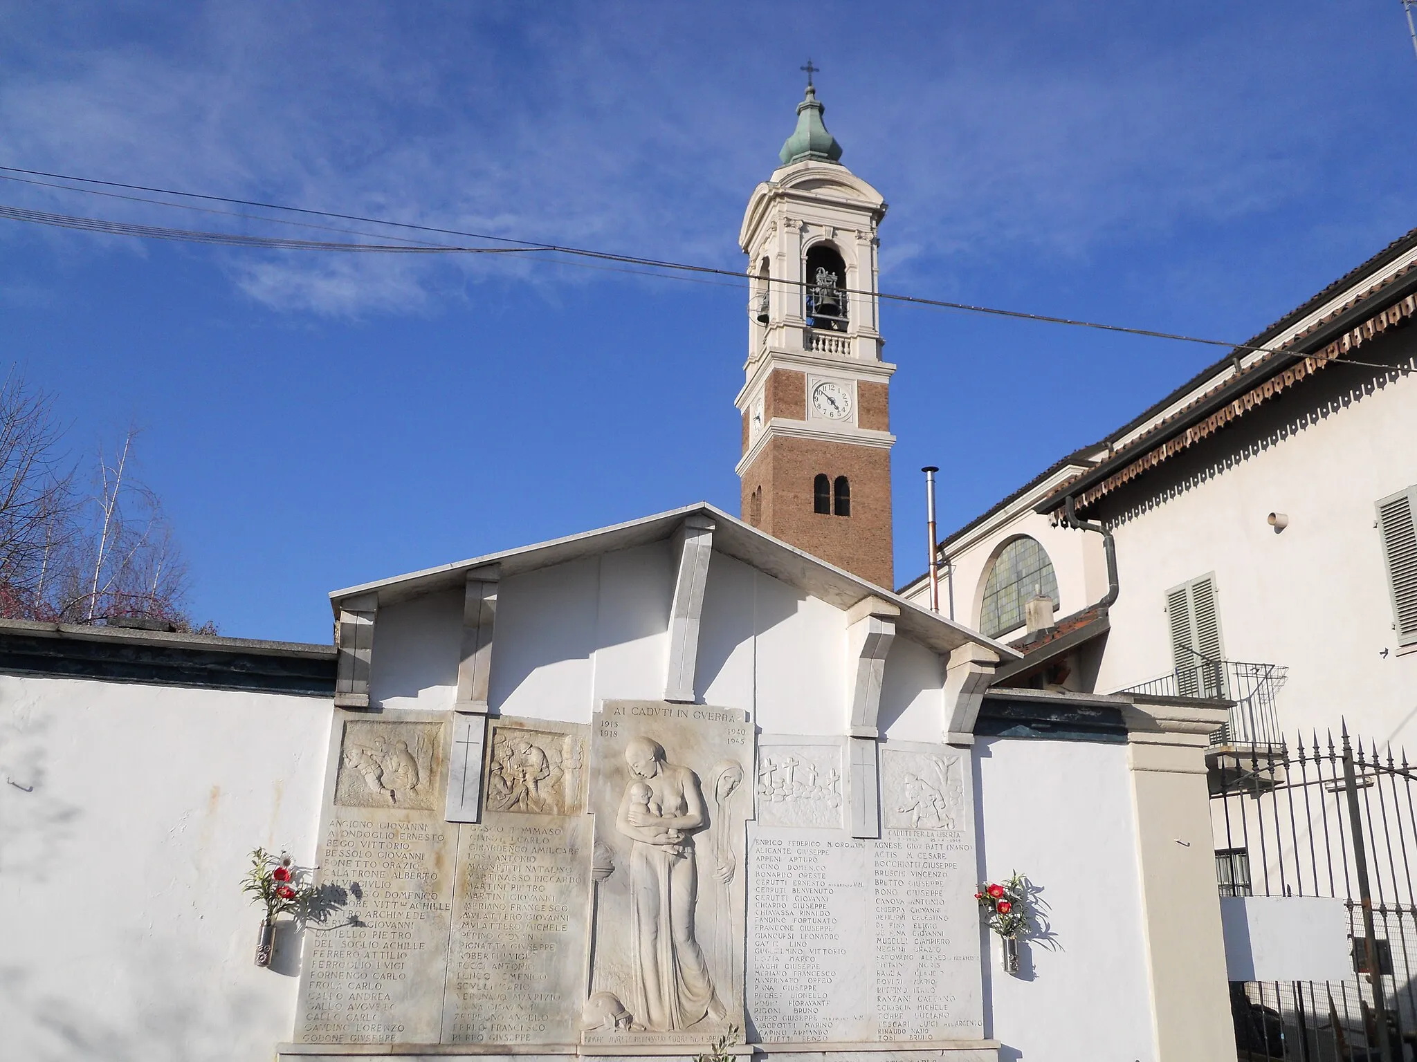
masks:
{"label": "pale gabled roof slab sheltering the war memorial", "polygon": [[659,542],[669,538],[679,530],[684,517],[701,514],[714,521],[713,548],[716,552],[731,556],[764,575],[771,575],[803,593],[825,600],[843,612],[864,598],[880,598],[900,607],[900,619],[896,622],[897,630],[928,649],[939,653],[949,653],[964,644],[988,646],[999,654],[1000,660],[1017,660],[1020,654],[1005,646],[1002,641],[986,639],[976,630],[971,630],[961,623],[948,620],[928,609],[922,609],[913,602],[900,598],[893,590],[866,582],[835,565],[820,561],[811,554],[805,554],[772,535],[764,534],[755,527],[731,517],[721,508],[700,501],[667,513],[656,513],[652,517],[631,520],[625,524],[612,524],[595,531],[582,531],[578,535],[553,538],[548,542],[504,549],[497,554],[473,556],[466,561],[425,568],[421,572],[395,575],[391,579],[346,586],[330,593],[330,606],[336,616],[340,602],[368,593],[378,595],[380,605],[394,605],[397,602],[421,598],[427,593],[461,588],[468,573],[475,568],[499,565],[500,576],[506,579],[512,575],[533,572],[540,568],[551,568],[570,561],[580,561],[587,556],[609,554],[618,549],[632,549],[649,542]]}

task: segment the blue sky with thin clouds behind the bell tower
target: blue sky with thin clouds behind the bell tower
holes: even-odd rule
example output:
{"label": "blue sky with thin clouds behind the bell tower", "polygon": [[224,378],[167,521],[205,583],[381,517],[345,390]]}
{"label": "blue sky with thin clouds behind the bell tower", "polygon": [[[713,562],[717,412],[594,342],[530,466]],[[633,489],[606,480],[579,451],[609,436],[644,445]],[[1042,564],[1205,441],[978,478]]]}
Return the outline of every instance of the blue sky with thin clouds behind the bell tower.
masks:
{"label": "blue sky with thin clouds behind the bell tower", "polygon": [[[1238,341],[1417,224],[1399,0],[0,0],[0,164],[738,269],[808,55],[890,202],[888,290]],[[227,634],[327,641],[337,586],[737,511],[745,329],[726,285],[0,221],[0,354],[75,455],[146,426],[193,612]],[[955,527],[1217,357],[900,306],[883,331],[903,578],[921,464]]]}

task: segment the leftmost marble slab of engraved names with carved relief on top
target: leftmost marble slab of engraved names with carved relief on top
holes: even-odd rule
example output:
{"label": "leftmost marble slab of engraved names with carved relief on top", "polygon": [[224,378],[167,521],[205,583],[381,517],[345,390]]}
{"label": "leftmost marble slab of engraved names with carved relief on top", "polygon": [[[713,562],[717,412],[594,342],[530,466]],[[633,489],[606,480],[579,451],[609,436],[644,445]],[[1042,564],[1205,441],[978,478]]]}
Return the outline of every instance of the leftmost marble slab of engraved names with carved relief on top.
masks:
{"label": "leftmost marble slab of engraved names with carved relief on top", "polygon": [[438,1039],[455,828],[432,813],[442,726],[425,712],[336,714],[316,884],[337,902],[306,930],[298,1042]]}

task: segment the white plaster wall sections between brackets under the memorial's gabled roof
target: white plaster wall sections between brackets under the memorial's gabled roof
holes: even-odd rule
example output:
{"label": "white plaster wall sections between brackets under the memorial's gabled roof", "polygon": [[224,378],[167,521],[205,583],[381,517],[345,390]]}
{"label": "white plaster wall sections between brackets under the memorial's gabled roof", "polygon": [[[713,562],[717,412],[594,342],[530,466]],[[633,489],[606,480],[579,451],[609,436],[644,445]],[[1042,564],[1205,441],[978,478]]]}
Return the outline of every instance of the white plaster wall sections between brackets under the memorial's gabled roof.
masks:
{"label": "white plaster wall sections between brackets under the memorial's gabled roof", "polygon": [[[503,715],[589,722],[606,698],[665,694],[672,542],[652,542],[502,581],[490,705]],[[696,691],[741,708],[774,733],[845,733],[846,613],[723,554],[713,554]],[[384,708],[451,708],[462,595],[380,609],[370,697]],[[939,741],[938,657],[897,639],[883,712],[893,736]],[[884,718],[884,715],[883,715]]]}

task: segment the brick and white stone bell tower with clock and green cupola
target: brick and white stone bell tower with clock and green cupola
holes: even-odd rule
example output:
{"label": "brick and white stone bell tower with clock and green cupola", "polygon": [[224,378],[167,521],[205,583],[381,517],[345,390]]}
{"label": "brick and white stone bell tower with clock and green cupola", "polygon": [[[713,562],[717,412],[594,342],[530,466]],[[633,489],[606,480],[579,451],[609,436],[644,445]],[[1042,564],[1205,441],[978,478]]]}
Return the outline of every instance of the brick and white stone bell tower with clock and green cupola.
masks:
{"label": "brick and white stone bell tower with clock and green cupola", "polygon": [[743,518],[891,589],[896,367],[881,361],[876,296],[886,202],[839,161],[812,72],[782,166],[754,190],[738,234],[751,276]]}

